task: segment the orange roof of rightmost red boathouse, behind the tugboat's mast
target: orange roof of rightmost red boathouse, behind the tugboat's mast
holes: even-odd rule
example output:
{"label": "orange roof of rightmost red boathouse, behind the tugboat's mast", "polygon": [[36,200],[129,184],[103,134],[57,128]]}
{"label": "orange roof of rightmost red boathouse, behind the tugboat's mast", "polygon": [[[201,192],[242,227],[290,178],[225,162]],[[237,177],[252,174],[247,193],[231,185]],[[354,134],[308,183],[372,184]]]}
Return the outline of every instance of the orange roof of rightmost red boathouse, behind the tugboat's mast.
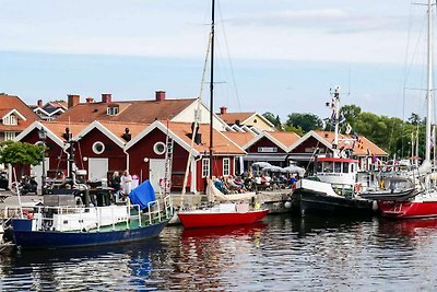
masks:
{"label": "orange roof of rightmost red boathouse, behind the tugboat's mast", "polygon": [[[334,132],[331,131],[309,131],[307,132],[304,137],[302,137],[296,143],[293,144],[293,147],[290,149],[292,151],[296,147],[298,147],[302,142],[307,140],[309,137],[314,137],[318,141],[320,141],[322,144],[324,144],[328,149],[332,150],[332,141],[334,140]],[[376,145],[374,142],[368,140],[364,136],[358,137],[359,141],[363,143],[363,148],[358,147],[358,142],[354,142],[354,138],[351,135],[343,135],[339,133],[339,149],[342,148],[351,148],[354,147],[354,154],[358,156],[365,156],[367,155],[367,150],[369,153],[379,155],[379,156],[386,156],[388,153],[380,149],[378,145]]]}

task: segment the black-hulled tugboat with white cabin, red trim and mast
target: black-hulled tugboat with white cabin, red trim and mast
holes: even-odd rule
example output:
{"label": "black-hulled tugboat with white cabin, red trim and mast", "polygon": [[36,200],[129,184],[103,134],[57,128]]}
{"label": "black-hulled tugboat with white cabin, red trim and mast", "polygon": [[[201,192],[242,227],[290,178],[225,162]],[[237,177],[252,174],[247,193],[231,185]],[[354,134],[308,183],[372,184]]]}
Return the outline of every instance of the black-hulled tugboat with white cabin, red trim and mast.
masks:
{"label": "black-hulled tugboat with white cabin, red trim and mast", "polygon": [[292,195],[292,211],[305,217],[308,213],[324,215],[371,214],[375,210],[373,200],[362,198],[357,183],[358,161],[347,149],[339,150],[340,87],[336,86],[330,103],[334,121],[333,153],[316,156],[314,177],[296,182]]}

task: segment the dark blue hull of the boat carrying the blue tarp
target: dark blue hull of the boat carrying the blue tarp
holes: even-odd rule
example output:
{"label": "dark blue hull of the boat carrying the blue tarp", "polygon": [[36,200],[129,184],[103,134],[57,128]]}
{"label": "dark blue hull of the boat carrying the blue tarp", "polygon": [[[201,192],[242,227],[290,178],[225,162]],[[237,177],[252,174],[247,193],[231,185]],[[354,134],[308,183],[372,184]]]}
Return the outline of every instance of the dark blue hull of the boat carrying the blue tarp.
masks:
{"label": "dark blue hull of the boat carrying the blue tarp", "polygon": [[158,236],[167,224],[167,221],[163,221],[153,225],[117,231],[57,232],[26,230],[25,226],[29,222],[32,220],[28,219],[12,221],[14,243],[20,248],[68,248],[142,241]]}

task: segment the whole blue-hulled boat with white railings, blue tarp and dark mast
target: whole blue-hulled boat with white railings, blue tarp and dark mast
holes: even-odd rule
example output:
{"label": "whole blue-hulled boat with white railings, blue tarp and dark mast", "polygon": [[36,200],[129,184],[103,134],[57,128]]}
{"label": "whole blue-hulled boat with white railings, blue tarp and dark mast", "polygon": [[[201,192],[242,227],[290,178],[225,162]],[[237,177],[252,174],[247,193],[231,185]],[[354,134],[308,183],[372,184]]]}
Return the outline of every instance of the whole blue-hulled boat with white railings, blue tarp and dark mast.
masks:
{"label": "whole blue-hulled boat with white railings, blue tarp and dark mast", "polygon": [[[44,202],[33,208],[21,203],[11,218],[13,242],[20,248],[73,248],[142,241],[157,236],[173,217],[172,198],[156,199],[149,180],[129,194],[127,205],[96,198],[81,178],[85,173],[74,163],[74,145],[66,129],[69,175],[47,188]],[[101,194],[106,196],[104,194]],[[92,198],[93,197],[93,198]],[[101,201],[101,202],[99,202]]]}

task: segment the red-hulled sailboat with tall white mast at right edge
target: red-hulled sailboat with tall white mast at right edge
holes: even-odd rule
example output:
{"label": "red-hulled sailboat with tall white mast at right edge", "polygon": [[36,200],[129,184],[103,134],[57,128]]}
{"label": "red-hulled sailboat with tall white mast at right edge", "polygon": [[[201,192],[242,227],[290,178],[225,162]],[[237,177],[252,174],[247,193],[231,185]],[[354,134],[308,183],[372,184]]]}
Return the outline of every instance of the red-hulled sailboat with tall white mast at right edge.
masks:
{"label": "red-hulled sailboat with tall white mast at right edge", "polygon": [[433,98],[433,3],[428,0],[428,36],[427,36],[427,114],[426,114],[426,150],[425,160],[418,168],[416,196],[412,198],[378,199],[378,209],[382,217],[395,219],[435,218],[437,217],[437,189],[432,186],[432,98]]}

